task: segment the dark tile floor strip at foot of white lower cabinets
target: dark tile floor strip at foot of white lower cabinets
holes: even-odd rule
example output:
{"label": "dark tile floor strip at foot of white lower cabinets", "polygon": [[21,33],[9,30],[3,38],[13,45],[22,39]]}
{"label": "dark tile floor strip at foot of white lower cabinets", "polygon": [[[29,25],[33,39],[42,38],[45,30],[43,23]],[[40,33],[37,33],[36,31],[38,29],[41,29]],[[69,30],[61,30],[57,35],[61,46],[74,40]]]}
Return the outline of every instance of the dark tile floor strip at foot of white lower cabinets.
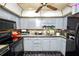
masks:
{"label": "dark tile floor strip at foot of white lower cabinets", "polygon": [[61,52],[25,52],[24,56],[63,56]]}

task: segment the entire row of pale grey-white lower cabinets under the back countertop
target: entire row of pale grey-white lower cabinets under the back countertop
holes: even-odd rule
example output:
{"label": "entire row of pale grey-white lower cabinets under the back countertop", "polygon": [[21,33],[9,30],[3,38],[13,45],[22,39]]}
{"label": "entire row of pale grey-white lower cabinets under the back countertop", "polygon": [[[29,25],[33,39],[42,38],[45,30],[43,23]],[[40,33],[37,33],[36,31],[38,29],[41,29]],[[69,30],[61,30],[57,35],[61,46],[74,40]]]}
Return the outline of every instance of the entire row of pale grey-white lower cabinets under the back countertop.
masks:
{"label": "entire row of pale grey-white lower cabinets under the back countertop", "polygon": [[66,39],[56,38],[24,38],[24,51],[60,51],[65,55]]}

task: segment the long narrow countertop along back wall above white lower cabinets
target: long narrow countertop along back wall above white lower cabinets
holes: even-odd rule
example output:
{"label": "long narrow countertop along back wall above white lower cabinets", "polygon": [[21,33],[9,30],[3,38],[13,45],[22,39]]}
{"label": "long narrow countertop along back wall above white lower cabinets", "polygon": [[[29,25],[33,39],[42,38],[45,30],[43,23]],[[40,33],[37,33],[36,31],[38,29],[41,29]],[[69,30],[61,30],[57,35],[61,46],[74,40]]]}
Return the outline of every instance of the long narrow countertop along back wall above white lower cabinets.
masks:
{"label": "long narrow countertop along back wall above white lower cabinets", "polygon": [[56,35],[52,35],[52,36],[49,36],[49,35],[21,35],[21,36],[24,37],[24,38],[27,38],[27,37],[29,37],[29,38],[54,38],[54,37],[62,37],[64,39],[66,39],[66,37],[63,36],[63,35],[59,35],[59,36],[56,36]]}

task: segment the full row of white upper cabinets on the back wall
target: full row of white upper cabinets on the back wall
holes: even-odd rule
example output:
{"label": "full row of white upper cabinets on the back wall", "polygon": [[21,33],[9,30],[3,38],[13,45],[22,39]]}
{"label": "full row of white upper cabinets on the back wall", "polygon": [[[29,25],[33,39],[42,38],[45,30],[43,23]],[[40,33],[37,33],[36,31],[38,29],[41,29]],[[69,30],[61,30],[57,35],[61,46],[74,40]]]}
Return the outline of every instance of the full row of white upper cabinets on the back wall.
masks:
{"label": "full row of white upper cabinets on the back wall", "polygon": [[54,25],[57,29],[66,29],[67,20],[65,17],[58,18],[21,18],[21,29],[42,28],[44,25]]}

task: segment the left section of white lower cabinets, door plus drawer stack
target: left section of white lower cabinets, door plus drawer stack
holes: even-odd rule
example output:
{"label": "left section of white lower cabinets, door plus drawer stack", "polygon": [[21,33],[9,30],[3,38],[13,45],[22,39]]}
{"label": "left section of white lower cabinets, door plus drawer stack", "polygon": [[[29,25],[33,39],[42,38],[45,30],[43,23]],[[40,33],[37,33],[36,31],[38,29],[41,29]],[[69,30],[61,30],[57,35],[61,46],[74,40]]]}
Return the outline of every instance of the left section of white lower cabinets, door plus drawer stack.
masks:
{"label": "left section of white lower cabinets, door plus drawer stack", "polygon": [[24,38],[24,51],[42,51],[41,40],[37,38]]}

